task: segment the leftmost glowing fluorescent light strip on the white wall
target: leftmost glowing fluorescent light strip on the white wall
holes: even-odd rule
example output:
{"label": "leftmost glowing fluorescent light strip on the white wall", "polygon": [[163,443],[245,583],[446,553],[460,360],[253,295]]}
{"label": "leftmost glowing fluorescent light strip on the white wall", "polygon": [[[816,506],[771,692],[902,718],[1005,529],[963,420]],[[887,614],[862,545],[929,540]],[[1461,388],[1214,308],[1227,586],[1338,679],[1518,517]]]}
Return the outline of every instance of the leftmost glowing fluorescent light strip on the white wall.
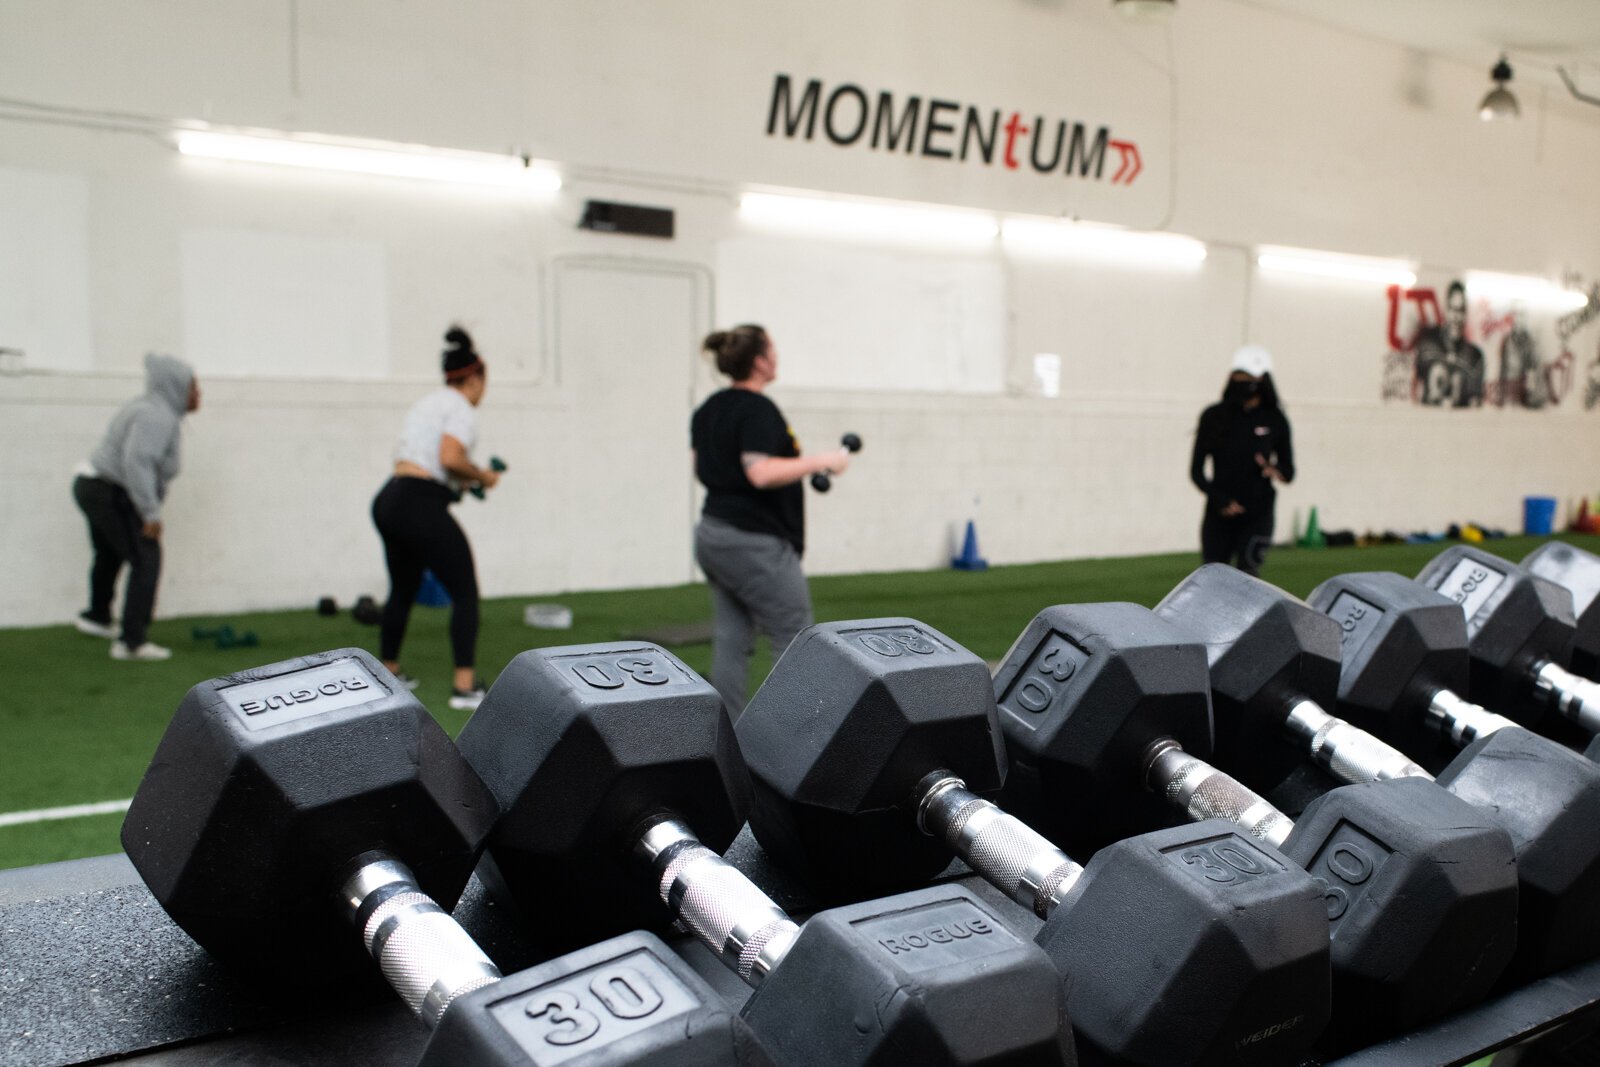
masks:
{"label": "leftmost glowing fluorescent light strip on the white wall", "polygon": [[427,146],[338,142],[307,134],[242,134],[182,131],[178,150],[214,160],[302,166],[382,178],[466,186],[501,186],[530,192],[555,192],[562,176],[549,166],[530,166],[514,155],[454,152]]}

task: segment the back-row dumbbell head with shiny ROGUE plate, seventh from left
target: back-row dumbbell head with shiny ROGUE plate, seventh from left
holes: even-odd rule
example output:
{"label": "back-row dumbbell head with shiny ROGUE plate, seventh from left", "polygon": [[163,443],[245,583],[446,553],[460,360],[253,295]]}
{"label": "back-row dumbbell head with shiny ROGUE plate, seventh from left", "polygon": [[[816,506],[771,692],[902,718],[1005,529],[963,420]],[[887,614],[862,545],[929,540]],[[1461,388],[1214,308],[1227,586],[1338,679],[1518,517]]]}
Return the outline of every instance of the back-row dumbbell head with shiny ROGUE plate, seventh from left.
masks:
{"label": "back-row dumbbell head with shiny ROGUE plate, seventh from left", "polygon": [[1467,617],[1472,699],[1542,726],[1549,709],[1534,691],[1533,669],[1546,659],[1566,665],[1578,625],[1571,593],[1466,544],[1435,555],[1416,579],[1454,600]]}

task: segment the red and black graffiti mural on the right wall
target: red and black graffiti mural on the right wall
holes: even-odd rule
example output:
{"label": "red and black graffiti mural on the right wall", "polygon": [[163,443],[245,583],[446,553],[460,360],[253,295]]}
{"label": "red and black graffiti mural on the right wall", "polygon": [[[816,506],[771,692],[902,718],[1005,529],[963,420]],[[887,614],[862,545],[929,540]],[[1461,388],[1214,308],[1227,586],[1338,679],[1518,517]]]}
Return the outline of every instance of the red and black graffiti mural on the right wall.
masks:
{"label": "red and black graffiti mural on the right wall", "polygon": [[[1576,334],[1597,320],[1600,283],[1587,307],[1562,317],[1483,298],[1469,302],[1461,282],[1445,286],[1443,299],[1432,286],[1390,285],[1382,398],[1432,408],[1558,405],[1578,378]],[[1594,410],[1600,406],[1600,352],[1590,352],[1581,397]]]}

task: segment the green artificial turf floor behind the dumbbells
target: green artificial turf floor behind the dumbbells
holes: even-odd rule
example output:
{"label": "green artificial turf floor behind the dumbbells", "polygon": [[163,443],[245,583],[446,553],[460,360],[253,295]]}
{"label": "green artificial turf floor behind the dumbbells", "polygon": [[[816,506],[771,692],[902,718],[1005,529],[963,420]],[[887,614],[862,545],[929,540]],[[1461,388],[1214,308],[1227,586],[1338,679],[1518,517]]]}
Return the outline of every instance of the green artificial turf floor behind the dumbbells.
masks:
{"label": "green artificial turf floor behind the dumbbells", "polygon": [[[1573,537],[1595,545],[1595,537]],[[1507,537],[1486,547],[1520,560],[1538,537]],[[1378,545],[1365,549],[1278,549],[1262,577],[1304,597],[1325,577],[1344,571],[1392,569],[1416,574],[1445,545]],[[1005,656],[1035,611],[1051,603],[1133,600],[1154,605],[1198,563],[1194,553],[1115,560],[1072,560],[998,566],[989,571],[914,571],[811,579],[816,616],[859,619],[912,616],[944,630],[986,659]],[[536,630],[523,624],[530,601],[558,601],[573,609],[573,629]],[[494,672],[525,648],[610,641],[662,625],[709,619],[702,585],[637,589],[555,597],[486,600],[478,662]],[[451,736],[466,712],[450,710],[450,640],[446,608],[418,608],[406,635],[405,670],[422,680],[418,696]],[[195,640],[195,627],[227,624],[254,632],[254,648],[218,649]],[[0,630],[0,662],[6,685],[0,694],[0,813],[118,800],[133,795],[184,691],[195,681],[264,662],[347,645],[376,649],[378,630],[349,611],[323,617],[315,611],[165,619],[150,638],[174,649],[166,662],[115,662],[107,641],[67,625]],[[709,645],[674,651],[693,669],[710,667]],[[765,651],[752,664],[752,691],[765,677]],[[0,867],[18,867],[117,851],[120,816],[58,819],[0,825]]]}

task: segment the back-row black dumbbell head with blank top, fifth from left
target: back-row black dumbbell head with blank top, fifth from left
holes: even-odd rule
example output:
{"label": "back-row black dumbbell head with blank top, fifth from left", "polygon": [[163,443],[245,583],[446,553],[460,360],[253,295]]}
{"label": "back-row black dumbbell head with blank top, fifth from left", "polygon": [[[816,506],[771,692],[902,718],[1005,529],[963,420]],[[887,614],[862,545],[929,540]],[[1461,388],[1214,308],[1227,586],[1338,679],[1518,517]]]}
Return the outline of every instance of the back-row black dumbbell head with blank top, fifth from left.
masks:
{"label": "back-row black dumbbell head with blank top, fifth from left", "polygon": [[1333,707],[1339,693],[1338,624],[1224,563],[1194,571],[1155,613],[1205,645],[1218,761],[1256,787],[1282,782],[1301,760],[1278,741],[1290,704]]}

